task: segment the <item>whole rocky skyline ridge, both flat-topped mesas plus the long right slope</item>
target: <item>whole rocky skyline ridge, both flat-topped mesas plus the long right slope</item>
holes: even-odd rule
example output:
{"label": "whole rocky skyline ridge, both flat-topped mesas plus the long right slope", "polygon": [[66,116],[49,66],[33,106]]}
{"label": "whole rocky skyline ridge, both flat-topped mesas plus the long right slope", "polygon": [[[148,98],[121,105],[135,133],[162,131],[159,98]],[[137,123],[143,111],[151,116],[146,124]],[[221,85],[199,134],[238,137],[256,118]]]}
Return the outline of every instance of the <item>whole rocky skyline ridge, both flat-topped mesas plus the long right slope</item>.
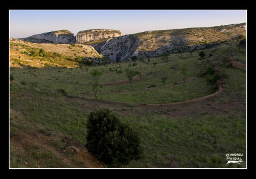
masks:
{"label": "whole rocky skyline ridge, both flat-topped mesas plus the long right slope", "polygon": [[[79,31],[75,37],[70,31],[54,31],[34,35],[23,40],[36,43],[93,43],[91,46],[112,61],[130,61],[152,58],[175,52],[191,52],[246,36],[246,23],[215,27],[195,27],[145,31],[122,35],[118,30],[91,29]],[[45,42],[46,41],[46,42]]]}

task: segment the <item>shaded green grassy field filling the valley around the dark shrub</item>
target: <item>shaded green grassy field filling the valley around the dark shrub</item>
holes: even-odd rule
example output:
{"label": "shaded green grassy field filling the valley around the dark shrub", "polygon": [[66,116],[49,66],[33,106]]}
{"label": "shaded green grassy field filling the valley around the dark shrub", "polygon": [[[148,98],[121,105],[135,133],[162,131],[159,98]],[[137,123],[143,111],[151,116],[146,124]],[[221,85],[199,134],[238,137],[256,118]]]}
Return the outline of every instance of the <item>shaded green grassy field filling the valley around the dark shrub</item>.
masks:
{"label": "shaded green grassy field filling the valley around the dark shrub", "polygon": [[[238,48],[233,43],[224,44],[216,49],[216,54],[227,54],[230,47],[233,52]],[[213,49],[205,49],[206,54],[211,51]],[[199,52],[78,68],[12,67],[10,110],[19,117],[10,116],[10,136],[17,135],[18,128],[28,132],[41,128],[46,134],[59,132],[84,145],[88,114],[93,109],[109,107],[140,134],[144,149],[143,159],[132,160],[123,167],[246,167],[246,72],[243,70],[218,66],[228,76],[223,86],[225,91],[202,104],[150,109],[147,105],[139,105],[183,102],[214,93],[205,78],[198,76],[207,66],[206,63],[198,64]],[[245,54],[238,53],[233,55],[246,61]],[[132,66],[133,63],[136,65]],[[125,68],[141,72],[134,77],[132,91]],[[180,73],[182,68],[187,69],[186,79],[194,77],[185,82],[185,86],[182,83],[184,76]],[[99,81],[99,100],[95,100],[92,93],[90,72],[93,70],[103,73]],[[122,72],[118,73],[119,70]],[[165,88],[161,77],[167,77]],[[101,99],[131,104],[113,104]],[[227,109],[221,106],[227,106]],[[192,109],[195,112],[184,113]],[[19,118],[24,122],[20,123]],[[42,161],[42,166],[67,167],[58,162],[58,157],[36,144],[29,146],[26,153]],[[226,153],[243,153],[243,162],[225,166]],[[13,148],[10,155],[10,167],[22,166],[22,160],[15,159],[25,155],[13,152]]]}

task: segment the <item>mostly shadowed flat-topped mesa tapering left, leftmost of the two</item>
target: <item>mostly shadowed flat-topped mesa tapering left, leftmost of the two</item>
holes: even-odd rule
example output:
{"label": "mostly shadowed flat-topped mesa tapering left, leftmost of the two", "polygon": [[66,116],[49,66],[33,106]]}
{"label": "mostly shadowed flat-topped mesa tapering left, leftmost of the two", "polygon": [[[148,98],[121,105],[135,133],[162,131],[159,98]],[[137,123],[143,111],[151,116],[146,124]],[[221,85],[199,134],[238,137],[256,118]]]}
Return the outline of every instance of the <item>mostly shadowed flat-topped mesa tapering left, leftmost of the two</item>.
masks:
{"label": "mostly shadowed flat-topped mesa tapering left, leftmost of the two", "polygon": [[68,30],[52,31],[21,39],[35,43],[76,43],[74,34]]}

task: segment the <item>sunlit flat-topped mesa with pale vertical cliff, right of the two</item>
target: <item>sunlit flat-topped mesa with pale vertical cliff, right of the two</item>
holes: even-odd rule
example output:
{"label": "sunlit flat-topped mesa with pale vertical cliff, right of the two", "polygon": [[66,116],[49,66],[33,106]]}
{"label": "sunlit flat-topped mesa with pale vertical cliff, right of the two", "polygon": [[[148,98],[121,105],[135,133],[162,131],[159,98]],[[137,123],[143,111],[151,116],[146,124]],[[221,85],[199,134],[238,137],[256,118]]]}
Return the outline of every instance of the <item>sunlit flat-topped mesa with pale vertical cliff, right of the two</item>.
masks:
{"label": "sunlit flat-topped mesa with pale vertical cliff, right of the two", "polygon": [[79,31],[76,35],[76,43],[86,43],[95,40],[102,40],[122,36],[121,31],[113,29],[90,29]]}

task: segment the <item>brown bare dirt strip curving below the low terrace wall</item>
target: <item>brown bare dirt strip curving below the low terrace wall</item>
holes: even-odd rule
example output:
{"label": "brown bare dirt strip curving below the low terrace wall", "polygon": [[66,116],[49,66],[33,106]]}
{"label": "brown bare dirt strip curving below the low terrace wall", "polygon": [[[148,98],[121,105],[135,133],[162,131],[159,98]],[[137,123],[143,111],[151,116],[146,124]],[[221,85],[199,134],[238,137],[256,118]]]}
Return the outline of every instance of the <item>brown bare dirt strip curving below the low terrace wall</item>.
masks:
{"label": "brown bare dirt strip curving below the low terrace wall", "polygon": [[[173,104],[129,104],[125,102],[111,102],[106,100],[95,100],[83,97],[67,98],[72,102],[77,102],[77,108],[85,111],[92,111],[100,107],[107,107],[121,114],[138,114],[136,111],[143,113],[157,113],[164,116],[201,116],[204,114],[228,114],[239,109],[245,110],[245,104],[240,99],[230,100],[228,102],[219,102],[222,97],[227,95],[228,91],[221,91],[217,95],[200,100],[190,100],[189,102],[177,102]],[[86,107],[84,107],[86,106]],[[134,110],[136,109],[136,110]]]}

